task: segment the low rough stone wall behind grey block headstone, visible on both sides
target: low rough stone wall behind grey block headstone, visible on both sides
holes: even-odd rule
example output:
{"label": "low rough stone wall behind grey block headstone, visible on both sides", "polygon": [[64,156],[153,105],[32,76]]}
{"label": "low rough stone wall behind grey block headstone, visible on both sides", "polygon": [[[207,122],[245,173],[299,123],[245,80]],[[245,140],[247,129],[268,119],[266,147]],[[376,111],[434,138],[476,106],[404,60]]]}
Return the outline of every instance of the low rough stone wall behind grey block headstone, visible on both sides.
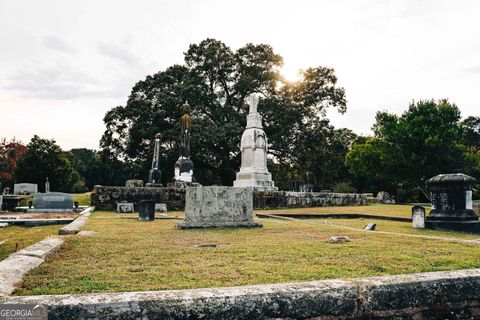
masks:
{"label": "low rough stone wall behind grey block headstone, visible on both sides", "polygon": [[[184,210],[184,188],[127,188],[96,186],[91,196],[91,205],[97,210],[115,210],[118,202],[153,200],[165,203],[168,210]],[[323,193],[292,191],[254,191],[254,209],[308,208],[332,206],[364,206],[367,196],[359,193]]]}

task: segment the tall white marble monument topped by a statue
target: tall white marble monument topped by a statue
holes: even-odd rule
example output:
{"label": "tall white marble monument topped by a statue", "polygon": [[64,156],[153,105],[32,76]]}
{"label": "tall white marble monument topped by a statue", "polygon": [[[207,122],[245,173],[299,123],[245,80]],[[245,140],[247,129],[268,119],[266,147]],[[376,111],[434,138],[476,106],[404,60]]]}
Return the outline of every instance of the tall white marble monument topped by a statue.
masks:
{"label": "tall white marble monument topped by a statue", "polygon": [[248,104],[247,127],[240,142],[242,165],[233,186],[274,191],[277,188],[267,169],[268,140],[263,131],[262,116],[257,112],[258,98],[250,95]]}

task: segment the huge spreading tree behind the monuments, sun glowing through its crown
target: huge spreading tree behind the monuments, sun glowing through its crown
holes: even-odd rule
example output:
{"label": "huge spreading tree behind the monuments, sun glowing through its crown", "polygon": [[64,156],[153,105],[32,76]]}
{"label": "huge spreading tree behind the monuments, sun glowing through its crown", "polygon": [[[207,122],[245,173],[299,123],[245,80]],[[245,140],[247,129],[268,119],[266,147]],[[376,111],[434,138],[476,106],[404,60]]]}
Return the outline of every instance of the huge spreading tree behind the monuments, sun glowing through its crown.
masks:
{"label": "huge spreading tree behind the monuments, sun glowing through its crown", "polygon": [[[270,156],[281,168],[273,170],[283,174],[275,179],[287,185],[303,168],[315,182],[333,180],[327,169],[315,163],[315,157],[329,157],[332,152],[327,149],[337,148],[340,141],[328,139],[337,133],[324,119],[328,108],[346,109],[345,91],[336,86],[333,69],[309,68],[298,82],[286,82],[279,73],[282,57],[269,45],[249,43],[233,51],[214,39],[190,45],[184,60],[183,65],[139,81],[125,106],[107,112],[100,142],[106,158],[130,164],[135,168],[131,174],[145,180],[154,136],[161,133],[162,179],[171,181],[179,151],[181,105],[188,100],[196,178],[205,185],[231,185],[240,166],[239,143],[248,112],[245,99],[257,93]],[[346,152],[344,145],[337,149]],[[327,160],[329,167],[343,167],[343,154]],[[333,175],[340,174],[337,171]]]}

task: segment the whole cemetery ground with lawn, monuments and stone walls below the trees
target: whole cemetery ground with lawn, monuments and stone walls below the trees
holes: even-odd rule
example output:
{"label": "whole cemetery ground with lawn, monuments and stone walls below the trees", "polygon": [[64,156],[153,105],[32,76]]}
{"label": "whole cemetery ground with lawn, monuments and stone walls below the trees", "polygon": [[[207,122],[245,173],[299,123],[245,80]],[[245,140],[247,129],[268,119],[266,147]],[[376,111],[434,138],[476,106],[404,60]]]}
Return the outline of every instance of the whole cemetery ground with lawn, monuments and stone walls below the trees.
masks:
{"label": "whole cemetery ground with lawn, monuments and stone walls below the trees", "polygon": [[[128,292],[151,292],[153,296],[147,299],[156,310],[151,312],[168,315],[172,305],[162,292],[177,292],[181,301],[182,291],[169,290],[208,292],[208,288],[235,287],[246,291],[232,305],[225,303],[214,308],[218,302],[212,300],[198,310],[194,303],[187,310],[170,315],[180,319],[182,312],[197,317],[197,312],[214,315],[223,310],[232,319],[251,318],[252,314],[303,318],[310,317],[309,312],[313,312],[311,316],[353,316],[360,312],[357,305],[332,309],[325,302],[326,307],[312,311],[311,304],[319,300],[300,303],[304,298],[296,290],[304,290],[300,289],[304,285],[328,286],[328,281],[336,281],[332,279],[368,281],[369,277],[386,276],[379,279],[389,283],[388,276],[405,274],[413,277],[407,281],[412,288],[406,284],[405,290],[414,290],[425,272],[433,272],[432,276],[439,272],[436,276],[443,279],[451,274],[441,271],[479,267],[479,218],[472,200],[474,178],[441,174],[427,180],[431,205],[395,204],[385,193],[373,198],[371,194],[281,191],[268,172],[267,137],[256,109],[258,101],[253,97],[249,103],[241,144],[242,165],[232,187],[202,186],[195,181],[188,105],[183,107],[187,117],[181,119],[182,144],[173,168],[175,179],[167,187],[159,182],[163,169],[159,134],[155,136],[152,167],[145,184],[133,179],[126,181],[124,187],[98,185],[82,198],[81,204],[74,201],[76,195],[51,192],[48,180],[45,193],[39,193],[36,185],[16,185],[15,193],[25,197],[20,201],[27,201],[28,205],[21,206],[19,201],[13,210],[0,214],[6,230],[0,231],[6,238],[0,250],[0,291],[4,301],[30,301],[38,296],[42,303],[49,304],[56,317],[62,318],[70,317],[70,310],[79,308],[78,303],[86,297],[77,294],[102,293],[101,302],[82,303],[78,310],[85,316],[102,310],[115,319],[125,314],[112,309],[113,301],[131,306],[134,301],[141,303],[145,299],[129,297]],[[32,196],[33,201],[29,200]],[[417,274],[419,278],[414,277]],[[480,282],[480,276],[475,281]],[[292,287],[290,282],[299,284]],[[283,296],[271,296],[276,292],[275,284],[282,283],[286,286],[279,291]],[[251,285],[259,287],[254,289]],[[295,286],[299,287],[294,289]],[[215,290],[218,295],[214,296],[218,297],[232,294],[228,288]],[[280,299],[300,305],[272,311],[268,303],[249,302],[255,300],[249,290],[272,301]],[[370,290],[380,290],[375,301],[382,303],[386,297],[382,290],[387,289]],[[119,300],[116,293],[127,296]],[[420,291],[413,294],[423,295]],[[442,294],[444,299],[451,299],[449,312],[457,312],[458,304],[471,299],[449,296],[450,291]],[[49,297],[67,297],[62,295],[73,296],[61,304],[48,302]],[[340,291],[335,295],[348,305],[347,293]],[[81,300],[77,303],[75,297]],[[324,297],[321,293],[318,299],[323,301]],[[201,293],[199,299],[204,299]],[[420,309],[432,301],[426,300]],[[258,307],[230,314],[232,308],[245,303]],[[365,304],[362,310],[368,308],[368,300],[357,303]],[[381,317],[389,312],[406,312],[403,302],[398,303],[403,311],[387,307],[365,314]],[[66,309],[62,307],[70,304]],[[411,310],[411,314],[420,312]]]}

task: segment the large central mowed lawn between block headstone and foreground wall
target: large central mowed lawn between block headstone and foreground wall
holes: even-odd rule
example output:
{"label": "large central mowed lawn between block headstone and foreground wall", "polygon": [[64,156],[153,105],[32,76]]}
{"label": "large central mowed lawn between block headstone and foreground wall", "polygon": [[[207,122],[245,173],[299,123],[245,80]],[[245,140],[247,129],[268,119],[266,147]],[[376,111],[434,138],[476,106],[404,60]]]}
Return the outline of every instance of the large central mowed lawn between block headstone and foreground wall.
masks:
{"label": "large central mowed lawn between block headstone and foreground wall", "polygon": [[[30,272],[15,294],[224,287],[480,267],[480,244],[474,243],[305,220],[258,219],[264,227],[257,229],[177,230],[174,220],[139,222],[118,216],[94,213],[84,230],[97,233],[67,238],[61,251]],[[329,221],[358,227],[367,222]],[[397,231],[403,228],[399,223],[378,223],[379,229],[384,223]],[[333,235],[352,241],[330,243]],[[195,247],[205,243],[217,247]]]}

